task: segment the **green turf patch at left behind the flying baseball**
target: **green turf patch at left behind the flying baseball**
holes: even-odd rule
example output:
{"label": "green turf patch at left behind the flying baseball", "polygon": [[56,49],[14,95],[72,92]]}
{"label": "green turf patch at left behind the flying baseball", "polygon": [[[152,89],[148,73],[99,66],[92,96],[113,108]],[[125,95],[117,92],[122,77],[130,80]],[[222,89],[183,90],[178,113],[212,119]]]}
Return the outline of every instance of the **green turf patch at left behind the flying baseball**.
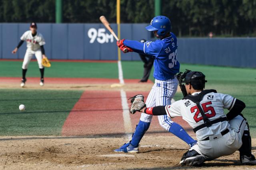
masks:
{"label": "green turf patch at left behind the flying baseball", "polygon": [[82,91],[0,89],[0,94],[0,135],[61,135]]}

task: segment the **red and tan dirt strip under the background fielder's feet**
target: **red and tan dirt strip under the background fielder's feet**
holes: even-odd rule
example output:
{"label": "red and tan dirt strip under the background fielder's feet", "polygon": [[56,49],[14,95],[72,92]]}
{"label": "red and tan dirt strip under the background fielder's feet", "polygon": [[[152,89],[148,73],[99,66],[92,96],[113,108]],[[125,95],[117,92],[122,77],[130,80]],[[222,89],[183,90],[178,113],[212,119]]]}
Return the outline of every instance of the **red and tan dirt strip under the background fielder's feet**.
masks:
{"label": "red and tan dirt strip under the background fielder's feet", "polygon": [[[21,88],[20,78],[18,77],[0,77],[0,88]],[[43,87],[39,86],[40,79],[27,78],[24,89],[53,89],[53,90],[120,90],[127,91],[149,91],[153,83],[148,80],[146,83],[138,83],[139,79],[125,79],[125,85],[122,87],[112,87],[118,84],[118,79],[110,78],[45,78]]]}

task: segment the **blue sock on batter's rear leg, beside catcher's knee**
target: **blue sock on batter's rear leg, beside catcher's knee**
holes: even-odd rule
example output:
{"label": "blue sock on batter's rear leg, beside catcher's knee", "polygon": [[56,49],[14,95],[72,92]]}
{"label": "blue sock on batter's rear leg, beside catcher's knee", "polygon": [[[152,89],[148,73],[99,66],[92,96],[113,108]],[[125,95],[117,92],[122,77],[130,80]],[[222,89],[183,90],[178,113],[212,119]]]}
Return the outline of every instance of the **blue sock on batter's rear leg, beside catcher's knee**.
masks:
{"label": "blue sock on batter's rear leg, beside catcher's knee", "polygon": [[169,132],[180,138],[182,141],[186,142],[189,147],[196,145],[197,141],[190,137],[185,129],[183,129],[183,127],[181,127],[178,123],[173,122],[169,128]]}

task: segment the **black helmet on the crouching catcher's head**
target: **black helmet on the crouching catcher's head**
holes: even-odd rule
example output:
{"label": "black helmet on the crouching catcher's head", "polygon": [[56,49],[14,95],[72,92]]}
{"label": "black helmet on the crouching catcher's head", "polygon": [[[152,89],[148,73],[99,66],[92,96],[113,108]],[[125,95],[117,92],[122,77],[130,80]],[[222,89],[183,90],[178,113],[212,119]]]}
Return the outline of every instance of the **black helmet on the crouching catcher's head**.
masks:
{"label": "black helmet on the crouching catcher's head", "polygon": [[182,81],[186,84],[191,84],[195,90],[203,90],[205,87],[205,75],[199,71],[190,71],[186,74],[185,79]]}

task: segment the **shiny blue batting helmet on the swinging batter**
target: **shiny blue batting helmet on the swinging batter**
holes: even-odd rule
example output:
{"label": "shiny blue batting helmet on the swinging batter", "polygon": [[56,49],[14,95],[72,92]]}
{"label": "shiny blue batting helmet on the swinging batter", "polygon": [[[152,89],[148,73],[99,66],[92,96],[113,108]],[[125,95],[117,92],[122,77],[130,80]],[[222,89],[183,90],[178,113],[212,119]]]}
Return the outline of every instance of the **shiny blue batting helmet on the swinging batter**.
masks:
{"label": "shiny blue batting helmet on the swinging batter", "polygon": [[171,31],[172,25],[169,18],[166,16],[156,16],[154,17],[150,25],[146,27],[148,31],[157,31],[157,34],[160,36],[166,35]]}

